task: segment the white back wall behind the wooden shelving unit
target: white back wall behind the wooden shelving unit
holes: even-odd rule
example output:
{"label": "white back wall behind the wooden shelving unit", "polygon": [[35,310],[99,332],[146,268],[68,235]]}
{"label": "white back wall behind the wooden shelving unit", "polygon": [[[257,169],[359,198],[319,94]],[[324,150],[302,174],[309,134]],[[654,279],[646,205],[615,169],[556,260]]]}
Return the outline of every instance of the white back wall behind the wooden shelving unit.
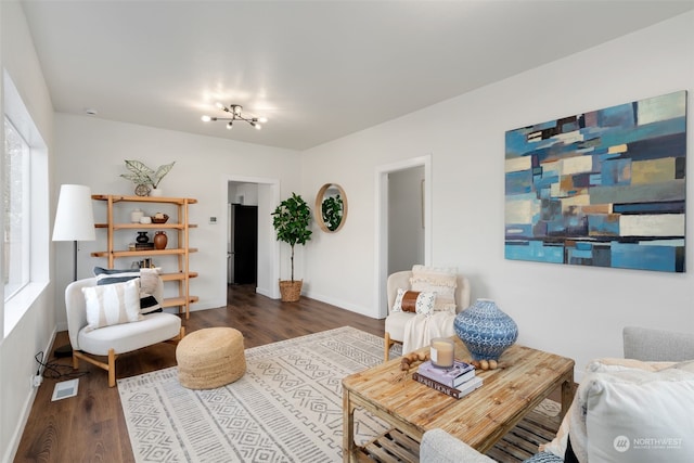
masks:
{"label": "white back wall behind the wooden shelving unit", "polygon": [[[133,184],[119,177],[126,172],[125,159],[139,159],[152,168],[176,160],[162,181],[166,196],[194,197],[190,206],[190,268],[198,272],[191,280],[191,294],[200,301],[191,310],[202,310],[227,304],[227,195],[231,178],[268,178],[280,184],[281,194],[288,195],[299,187],[299,154],[291,150],[240,143],[218,138],[201,137],[113,123],[88,116],[55,115],[56,153],[55,182],[80,183],[92,193],[133,194]],[[131,207],[127,206],[127,210]],[[151,211],[146,210],[145,211]],[[217,224],[209,224],[217,217]],[[94,220],[105,220],[105,204],[94,203]],[[267,214],[268,222],[271,217]],[[121,232],[125,233],[125,232]],[[134,239],[136,234],[132,234]],[[273,237],[272,237],[273,240]],[[78,278],[91,275],[94,266],[105,266],[105,258],[90,253],[105,249],[106,233],[97,231],[97,241],[79,243]],[[275,246],[271,241],[270,246]],[[288,250],[288,249],[285,249]],[[56,259],[65,261],[72,255],[72,243],[56,245]],[[129,267],[131,259],[119,259],[116,267]],[[271,278],[264,273],[266,280]],[[72,272],[56,273],[56,295],[72,280]],[[274,280],[277,282],[277,279]],[[259,286],[267,287],[269,283]],[[277,286],[277,283],[274,283]],[[64,305],[59,305],[59,329],[65,329]]]}

